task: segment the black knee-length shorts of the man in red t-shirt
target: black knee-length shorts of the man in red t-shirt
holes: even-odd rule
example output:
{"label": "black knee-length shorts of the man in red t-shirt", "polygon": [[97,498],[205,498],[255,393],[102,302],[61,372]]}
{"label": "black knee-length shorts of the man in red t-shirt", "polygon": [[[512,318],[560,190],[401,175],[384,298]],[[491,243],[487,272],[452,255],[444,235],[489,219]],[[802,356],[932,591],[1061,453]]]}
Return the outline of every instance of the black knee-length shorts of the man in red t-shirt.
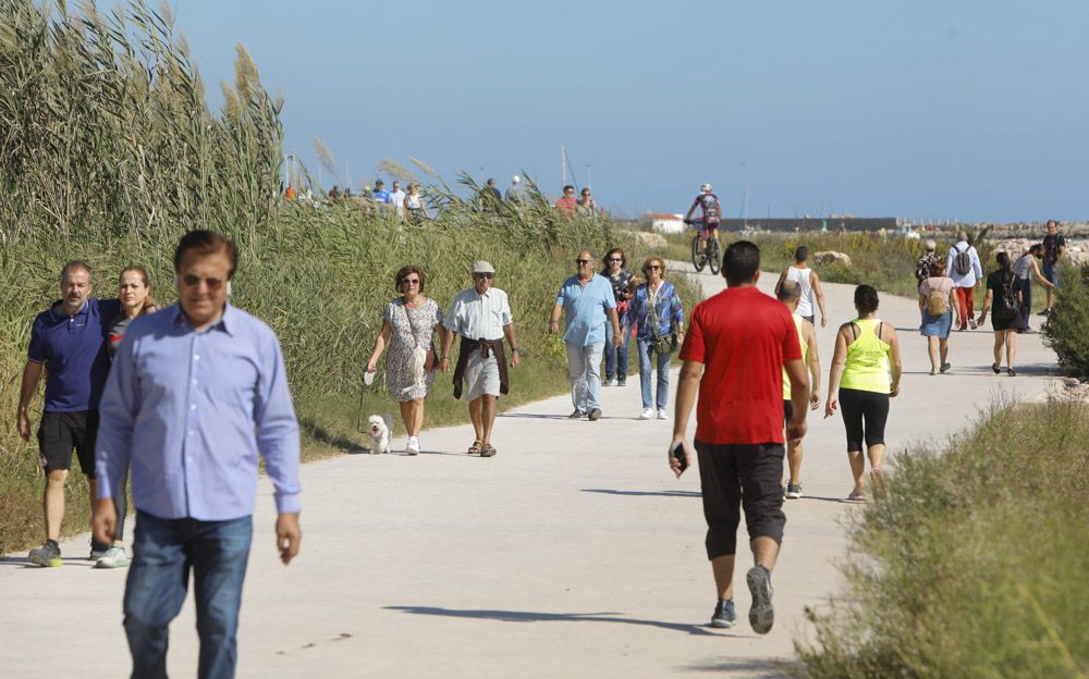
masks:
{"label": "black knee-length shorts of the man in red t-shirt", "polygon": [[781,443],[696,442],[699,482],[707,519],[707,558],[737,553],[737,526],[745,509],[749,540],[783,542],[783,456]]}

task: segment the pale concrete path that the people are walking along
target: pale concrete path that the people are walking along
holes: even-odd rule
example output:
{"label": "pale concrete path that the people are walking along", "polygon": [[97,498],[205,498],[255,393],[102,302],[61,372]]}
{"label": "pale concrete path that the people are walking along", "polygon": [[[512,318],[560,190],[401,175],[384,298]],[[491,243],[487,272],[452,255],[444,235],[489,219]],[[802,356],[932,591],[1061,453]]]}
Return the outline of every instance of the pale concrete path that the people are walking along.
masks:
{"label": "pale concrete path that the people are walking along", "polygon": [[[722,287],[717,276],[698,280],[709,294]],[[761,287],[773,282],[766,274]],[[853,287],[825,289],[824,379],[834,329],[853,318]],[[880,316],[903,330],[906,375],[888,430],[894,452],[923,434],[947,436],[999,395],[1040,392],[1054,362],[1038,335],[1021,335],[1020,375],[994,375],[992,334],[977,331],[953,337],[952,374],[930,376],[915,300],[883,297]],[[517,388],[517,373],[514,381]],[[303,551],[287,568],[276,557],[262,480],[238,675],[775,676],[774,661],[791,658],[806,631],[804,608],[841,584],[841,519],[859,510],[843,501],[851,490],[843,424],[810,420],[807,496],[786,503],[774,629],[758,637],[748,628],[750,556],[743,555],[741,624],[711,630],[703,627],[714,589],[699,476],[673,478],[665,462],[672,423],[637,421],[638,390],[638,376],[603,390],[599,422],[568,421],[563,397],[509,412],[491,459],[462,454],[472,430],[455,427],[425,432],[419,457],[351,455],[304,466]],[[0,561],[0,675],[127,675],[125,571],[90,569],[82,558],[87,541],[65,541],[59,569],[26,567],[24,555]],[[192,596],[172,629],[171,674],[192,677]]]}

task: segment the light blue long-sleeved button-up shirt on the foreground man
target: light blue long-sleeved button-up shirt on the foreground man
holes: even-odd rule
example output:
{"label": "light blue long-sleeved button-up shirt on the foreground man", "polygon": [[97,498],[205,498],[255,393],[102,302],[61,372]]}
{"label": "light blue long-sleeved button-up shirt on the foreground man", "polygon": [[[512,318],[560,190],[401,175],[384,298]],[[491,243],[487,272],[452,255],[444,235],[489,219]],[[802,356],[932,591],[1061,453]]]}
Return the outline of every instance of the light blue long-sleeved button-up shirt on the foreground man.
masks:
{"label": "light blue long-sleeved button-up shirt on the foreground man", "polygon": [[197,332],[180,305],[136,319],[118,348],[99,406],[98,496],[120,492],[132,462],[136,507],[160,519],[252,515],[257,455],[277,510],[299,510],[298,422],[280,343],[227,306]]}

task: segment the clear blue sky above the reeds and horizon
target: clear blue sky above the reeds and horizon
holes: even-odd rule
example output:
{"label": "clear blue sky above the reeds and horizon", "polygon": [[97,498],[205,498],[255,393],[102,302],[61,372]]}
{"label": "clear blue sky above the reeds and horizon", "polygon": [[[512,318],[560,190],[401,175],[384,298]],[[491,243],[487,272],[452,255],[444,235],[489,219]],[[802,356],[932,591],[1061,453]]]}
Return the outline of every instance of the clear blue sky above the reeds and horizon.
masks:
{"label": "clear blue sky above the reeds and horizon", "polygon": [[[626,214],[1089,218],[1089,2],[174,0],[219,106],[242,41],[353,183],[413,156]],[[331,181],[326,181],[331,185]]]}

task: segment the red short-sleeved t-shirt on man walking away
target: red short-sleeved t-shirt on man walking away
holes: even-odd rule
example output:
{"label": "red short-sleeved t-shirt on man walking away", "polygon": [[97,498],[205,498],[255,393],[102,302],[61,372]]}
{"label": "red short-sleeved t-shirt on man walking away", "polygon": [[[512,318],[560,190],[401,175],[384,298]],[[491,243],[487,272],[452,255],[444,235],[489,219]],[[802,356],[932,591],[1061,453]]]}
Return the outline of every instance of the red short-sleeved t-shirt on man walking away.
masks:
{"label": "red short-sleeved t-shirt on man walking away", "polygon": [[682,360],[703,363],[696,439],[783,443],[783,361],[802,359],[786,307],[756,287],[730,287],[696,305]]}

